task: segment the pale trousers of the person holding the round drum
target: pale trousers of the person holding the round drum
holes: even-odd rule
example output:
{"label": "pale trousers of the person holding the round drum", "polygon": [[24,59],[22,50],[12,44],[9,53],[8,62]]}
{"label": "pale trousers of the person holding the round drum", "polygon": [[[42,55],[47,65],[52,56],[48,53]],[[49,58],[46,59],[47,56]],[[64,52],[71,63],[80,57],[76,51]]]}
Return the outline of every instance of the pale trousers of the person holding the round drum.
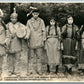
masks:
{"label": "pale trousers of the person holding the round drum", "polygon": [[20,73],[20,57],[21,52],[8,54],[8,70],[11,73]]}

